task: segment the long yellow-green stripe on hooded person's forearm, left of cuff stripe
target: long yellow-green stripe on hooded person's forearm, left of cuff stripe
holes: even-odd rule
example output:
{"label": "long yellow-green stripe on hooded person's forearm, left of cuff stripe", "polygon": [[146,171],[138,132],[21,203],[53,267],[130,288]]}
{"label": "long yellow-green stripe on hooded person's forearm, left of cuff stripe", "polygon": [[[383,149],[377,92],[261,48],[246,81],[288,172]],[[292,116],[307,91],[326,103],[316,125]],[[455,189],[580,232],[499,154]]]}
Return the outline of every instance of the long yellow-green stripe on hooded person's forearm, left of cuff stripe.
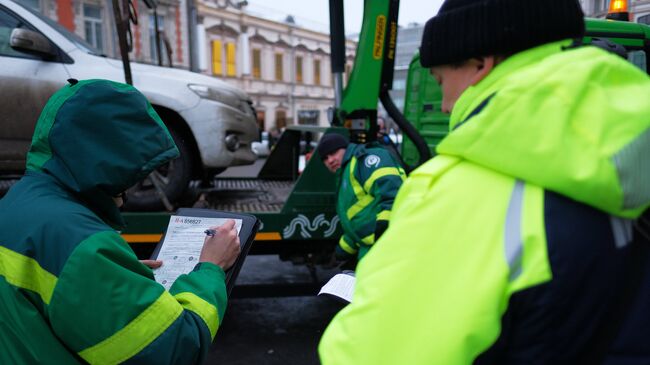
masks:
{"label": "long yellow-green stripe on hooded person's forearm, left of cuff stripe", "polygon": [[165,332],[182,312],[176,299],[164,291],[124,328],[79,352],[79,356],[91,364],[117,364],[128,360]]}

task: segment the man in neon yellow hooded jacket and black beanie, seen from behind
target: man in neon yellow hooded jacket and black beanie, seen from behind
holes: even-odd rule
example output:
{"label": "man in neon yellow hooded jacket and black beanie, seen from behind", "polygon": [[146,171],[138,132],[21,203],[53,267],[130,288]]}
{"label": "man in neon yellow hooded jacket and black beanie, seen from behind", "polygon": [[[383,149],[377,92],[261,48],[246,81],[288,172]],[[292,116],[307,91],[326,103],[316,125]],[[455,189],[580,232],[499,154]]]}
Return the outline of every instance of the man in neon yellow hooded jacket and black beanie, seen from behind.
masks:
{"label": "man in neon yellow hooded jacket and black beanie, seen from behind", "polygon": [[631,239],[650,80],[583,34],[577,0],[446,0],[427,22],[451,132],[357,267],[323,364],[650,363],[650,270],[626,274],[650,262]]}

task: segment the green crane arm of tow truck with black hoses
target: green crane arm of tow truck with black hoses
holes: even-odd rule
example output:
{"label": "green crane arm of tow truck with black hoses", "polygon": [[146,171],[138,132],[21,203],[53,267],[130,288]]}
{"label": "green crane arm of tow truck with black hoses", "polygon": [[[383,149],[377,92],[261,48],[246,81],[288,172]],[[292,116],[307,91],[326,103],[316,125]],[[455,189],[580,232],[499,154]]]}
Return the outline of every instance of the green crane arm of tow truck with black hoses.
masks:
{"label": "green crane arm of tow truck with black hoses", "polygon": [[393,84],[398,14],[399,0],[364,1],[354,67],[347,86],[341,90],[345,65],[343,0],[330,0],[332,72],[337,92],[332,124],[350,128],[354,142],[372,142],[377,135],[377,105],[381,100],[391,118],[415,143],[421,164],[431,157],[429,149],[417,130],[395,107],[388,93]]}

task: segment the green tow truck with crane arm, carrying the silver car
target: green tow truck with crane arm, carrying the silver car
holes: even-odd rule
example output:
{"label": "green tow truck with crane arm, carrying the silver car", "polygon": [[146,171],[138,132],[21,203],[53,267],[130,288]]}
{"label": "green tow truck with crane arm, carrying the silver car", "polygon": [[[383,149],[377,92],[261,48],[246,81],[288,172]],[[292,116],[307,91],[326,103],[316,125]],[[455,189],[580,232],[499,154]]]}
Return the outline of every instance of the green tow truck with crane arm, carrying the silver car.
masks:
{"label": "green tow truck with crane arm, carrying the silver car", "polygon": [[[365,0],[364,19],[349,81],[342,87],[344,58],[343,0],[330,0],[330,38],[336,105],[330,127],[289,126],[255,178],[221,178],[201,193],[204,205],[217,210],[251,213],[262,226],[250,254],[277,254],[283,260],[315,270],[341,235],[336,215],[335,177],[318,158],[299,173],[301,136],[341,133],[355,143],[376,138],[377,105],[384,105],[404,134],[400,154],[413,169],[435,154],[448,133],[441,112],[441,90],[416,54],[410,63],[404,115],[388,91],[392,87],[399,0]],[[433,15],[433,14],[432,14]],[[612,1],[609,19],[586,19],[582,40],[608,39],[628,51],[631,62],[648,72],[650,27],[627,21],[626,1]],[[169,212],[125,213],[122,236],[146,256],[165,230]]]}

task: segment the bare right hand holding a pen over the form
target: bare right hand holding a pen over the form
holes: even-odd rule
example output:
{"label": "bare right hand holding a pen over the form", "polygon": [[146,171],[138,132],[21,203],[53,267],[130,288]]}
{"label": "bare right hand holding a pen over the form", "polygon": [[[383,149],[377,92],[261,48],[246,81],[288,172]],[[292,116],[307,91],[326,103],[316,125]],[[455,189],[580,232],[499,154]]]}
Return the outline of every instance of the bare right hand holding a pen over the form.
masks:
{"label": "bare right hand holding a pen over the form", "polygon": [[199,262],[211,262],[228,270],[241,251],[235,221],[228,219],[221,226],[206,229],[205,234]]}

